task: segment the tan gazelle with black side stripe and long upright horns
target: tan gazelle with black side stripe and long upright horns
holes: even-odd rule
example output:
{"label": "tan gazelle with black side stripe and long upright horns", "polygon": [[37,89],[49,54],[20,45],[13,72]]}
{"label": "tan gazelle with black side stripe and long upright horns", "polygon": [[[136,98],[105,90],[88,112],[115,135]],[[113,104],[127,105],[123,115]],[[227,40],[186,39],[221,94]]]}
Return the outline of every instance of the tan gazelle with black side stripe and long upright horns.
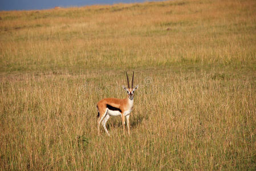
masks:
{"label": "tan gazelle with black side stripe and long upright horns", "polygon": [[124,90],[127,92],[126,99],[106,98],[106,99],[100,100],[97,103],[97,111],[98,111],[98,117],[99,117],[99,119],[97,120],[98,135],[100,135],[100,123],[101,123],[103,125],[103,128],[105,129],[105,132],[109,136],[109,133],[105,124],[107,123],[110,116],[121,116],[124,134],[125,134],[125,117],[126,117],[128,135],[130,135],[129,116],[133,107],[133,95],[135,90],[138,88],[138,86],[133,88],[134,72],[132,74],[132,87],[130,87],[129,85],[129,78],[128,78],[127,72],[126,72],[126,76],[127,76],[128,88],[123,86]]}

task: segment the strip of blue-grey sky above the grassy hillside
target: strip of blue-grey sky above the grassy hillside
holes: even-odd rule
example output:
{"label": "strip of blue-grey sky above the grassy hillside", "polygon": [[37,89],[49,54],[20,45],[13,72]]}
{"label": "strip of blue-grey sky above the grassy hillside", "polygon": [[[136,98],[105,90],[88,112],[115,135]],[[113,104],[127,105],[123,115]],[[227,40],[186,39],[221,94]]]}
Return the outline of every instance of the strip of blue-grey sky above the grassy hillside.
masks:
{"label": "strip of blue-grey sky above the grassy hillside", "polygon": [[[42,10],[60,7],[79,7],[94,4],[134,3],[148,0],[0,0],[0,11]],[[159,0],[157,0],[159,1]]]}

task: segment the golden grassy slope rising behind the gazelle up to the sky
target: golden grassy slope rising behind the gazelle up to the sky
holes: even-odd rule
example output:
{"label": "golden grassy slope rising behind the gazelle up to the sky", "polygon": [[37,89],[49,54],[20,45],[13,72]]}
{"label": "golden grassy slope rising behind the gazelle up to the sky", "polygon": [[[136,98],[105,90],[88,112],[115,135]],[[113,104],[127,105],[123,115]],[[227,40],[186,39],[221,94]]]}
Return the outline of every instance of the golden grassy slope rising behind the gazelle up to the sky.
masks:
{"label": "golden grassy slope rising behind the gazelle up to the sky", "polygon": [[1,70],[112,68],[112,60],[120,69],[184,60],[247,65],[255,60],[254,7],[168,1],[1,12]]}

